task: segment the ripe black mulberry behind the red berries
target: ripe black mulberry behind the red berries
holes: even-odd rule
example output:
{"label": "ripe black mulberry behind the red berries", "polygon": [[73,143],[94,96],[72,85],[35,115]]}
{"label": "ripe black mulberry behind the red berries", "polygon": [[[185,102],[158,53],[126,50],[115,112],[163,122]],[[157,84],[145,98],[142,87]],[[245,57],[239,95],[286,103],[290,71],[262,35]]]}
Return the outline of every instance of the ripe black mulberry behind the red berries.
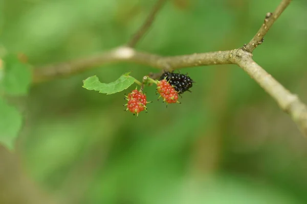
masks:
{"label": "ripe black mulberry behind the red berries", "polygon": [[174,89],[182,94],[185,91],[190,91],[189,89],[193,86],[193,80],[187,76],[187,74],[174,73],[174,72],[164,72],[160,80],[166,80]]}

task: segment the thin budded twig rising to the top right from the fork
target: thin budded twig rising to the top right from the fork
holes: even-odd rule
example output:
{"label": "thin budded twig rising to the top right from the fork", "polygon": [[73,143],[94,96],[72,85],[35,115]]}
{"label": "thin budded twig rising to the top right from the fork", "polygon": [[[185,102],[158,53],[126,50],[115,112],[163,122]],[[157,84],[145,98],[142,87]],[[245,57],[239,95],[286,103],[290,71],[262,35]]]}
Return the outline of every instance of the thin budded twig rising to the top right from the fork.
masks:
{"label": "thin budded twig rising to the top right from the fork", "polygon": [[257,34],[251,39],[251,41],[244,45],[244,48],[252,53],[254,49],[264,41],[265,35],[268,33],[274,22],[280,16],[280,14],[288,7],[292,0],[282,0],[273,13],[267,13],[265,22],[261,25],[261,28]]}

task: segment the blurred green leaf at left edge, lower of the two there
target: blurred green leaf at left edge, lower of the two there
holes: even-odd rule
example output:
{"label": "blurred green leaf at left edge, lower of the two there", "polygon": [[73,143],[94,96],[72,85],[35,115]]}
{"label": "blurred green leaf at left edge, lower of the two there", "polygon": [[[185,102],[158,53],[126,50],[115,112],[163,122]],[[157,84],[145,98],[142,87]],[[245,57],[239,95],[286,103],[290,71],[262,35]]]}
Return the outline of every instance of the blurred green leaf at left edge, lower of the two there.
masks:
{"label": "blurred green leaf at left edge, lower of the two there", "polygon": [[22,123],[18,110],[0,98],[0,143],[8,149],[14,148],[14,142]]}

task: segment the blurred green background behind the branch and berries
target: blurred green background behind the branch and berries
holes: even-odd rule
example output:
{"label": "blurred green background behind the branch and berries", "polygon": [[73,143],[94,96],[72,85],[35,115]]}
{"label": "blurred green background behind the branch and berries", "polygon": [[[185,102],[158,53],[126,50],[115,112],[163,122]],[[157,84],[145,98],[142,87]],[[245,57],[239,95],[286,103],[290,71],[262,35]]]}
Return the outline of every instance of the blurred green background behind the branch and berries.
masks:
{"label": "blurred green background behind the branch and berries", "polygon": [[[156,0],[2,0],[0,50],[46,65],[129,40]],[[138,49],[173,56],[232,49],[256,34],[280,0],[169,0]],[[254,52],[307,102],[307,2],[296,0]],[[0,146],[0,203],[307,203],[307,141],[235,65],[182,69],[197,82],[182,104],[123,111],[123,93],[82,88],[151,67],[120,63],[35,84],[13,98],[24,126],[12,154]]]}

